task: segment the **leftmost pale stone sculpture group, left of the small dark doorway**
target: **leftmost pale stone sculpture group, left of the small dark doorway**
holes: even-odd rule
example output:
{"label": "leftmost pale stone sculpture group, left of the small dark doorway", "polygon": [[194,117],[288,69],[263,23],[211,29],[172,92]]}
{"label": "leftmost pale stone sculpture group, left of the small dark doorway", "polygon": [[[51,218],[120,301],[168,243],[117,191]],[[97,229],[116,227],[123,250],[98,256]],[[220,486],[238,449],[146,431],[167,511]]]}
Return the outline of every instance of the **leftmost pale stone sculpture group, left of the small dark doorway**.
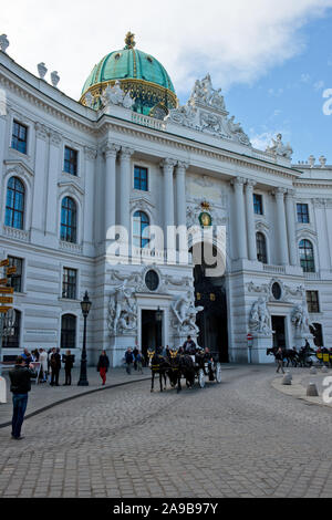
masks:
{"label": "leftmost pale stone sculpture group, left of the small dark doorway", "polygon": [[137,303],[135,290],[127,287],[127,280],[113,289],[108,304],[108,329],[117,334],[137,330]]}

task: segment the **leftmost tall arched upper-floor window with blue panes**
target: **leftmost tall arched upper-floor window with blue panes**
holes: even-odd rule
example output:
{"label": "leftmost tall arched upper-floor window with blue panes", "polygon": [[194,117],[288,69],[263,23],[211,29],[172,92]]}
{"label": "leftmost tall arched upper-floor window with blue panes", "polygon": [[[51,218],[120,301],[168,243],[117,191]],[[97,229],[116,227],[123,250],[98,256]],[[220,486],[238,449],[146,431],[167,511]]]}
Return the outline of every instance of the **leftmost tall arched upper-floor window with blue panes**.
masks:
{"label": "leftmost tall arched upper-floor window with blue panes", "polygon": [[18,177],[11,177],[7,187],[6,226],[23,229],[24,225],[24,185]]}

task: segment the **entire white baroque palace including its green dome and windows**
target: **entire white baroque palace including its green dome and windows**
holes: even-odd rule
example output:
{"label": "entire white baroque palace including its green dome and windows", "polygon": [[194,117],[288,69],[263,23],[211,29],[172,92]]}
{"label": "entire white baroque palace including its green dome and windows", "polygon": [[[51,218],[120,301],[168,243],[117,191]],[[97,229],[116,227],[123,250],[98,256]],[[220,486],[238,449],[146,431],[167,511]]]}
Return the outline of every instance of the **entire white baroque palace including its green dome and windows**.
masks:
{"label": "entire white baroque palace including its green dome and windows", "polygon": [[[332,166],[292,165],[273,139],[255,149],[210,76],[179,106],[163,65],[133,34],[95,65],[76,102],[7,53],[0,38],[0,249],[17,267],[22,347],[87,353],[178,346],[187,334],[224,362],[272,361],[267,347],[332,344]],[[107,261],[107,230],[129,230],[144,262]],[[224,226],[226,270],[167,261],[148,226]],[[212,239],[218,253],[218,243]],[[189,247],[195,243],[189,243]],[[191,251],[191,250],[190,250]],[[221,252],[220,252],[221,254]]]}

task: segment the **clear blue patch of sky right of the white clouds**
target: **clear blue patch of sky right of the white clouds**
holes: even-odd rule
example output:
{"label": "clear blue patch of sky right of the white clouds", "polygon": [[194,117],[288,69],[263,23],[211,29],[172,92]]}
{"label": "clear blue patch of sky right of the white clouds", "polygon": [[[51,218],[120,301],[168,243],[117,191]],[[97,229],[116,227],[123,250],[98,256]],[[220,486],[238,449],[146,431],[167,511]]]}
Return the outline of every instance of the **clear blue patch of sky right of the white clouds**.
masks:
{"label": "clear blue patch of sky right of the white clouds", "polygon": [[322,97],[332,89],[332,12],[301,33],[302,52],[257,82],[232,85],[226,93],[227,108],[259,147],[270,134],[281,132],[294,149],[293,160],[313,154],[317,159],[325,155],[332,164],[332,115],[323,114]]}

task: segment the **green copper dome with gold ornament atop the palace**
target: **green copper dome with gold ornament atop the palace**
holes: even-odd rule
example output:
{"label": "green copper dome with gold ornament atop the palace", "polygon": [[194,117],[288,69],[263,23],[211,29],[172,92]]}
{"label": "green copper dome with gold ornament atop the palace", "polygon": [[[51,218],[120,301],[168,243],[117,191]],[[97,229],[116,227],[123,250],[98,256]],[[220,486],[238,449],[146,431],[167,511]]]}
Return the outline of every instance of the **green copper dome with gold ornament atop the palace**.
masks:
{"label": "green copper dome with gold ornament atop the palace", "polygon": [[125,43],[122,51],[111,52],[94,66],[83,86],[81,103],[85,104],[85,94],[91,92],[93,106],[98,108],[103,91],[118,80],[123,91],[129,92],[135,100],[134,111],[153,115],[156,107],[164,108],[166,113],[175,108],[175,90],[162,63],[135,49],[134,34],[128,33]]}

